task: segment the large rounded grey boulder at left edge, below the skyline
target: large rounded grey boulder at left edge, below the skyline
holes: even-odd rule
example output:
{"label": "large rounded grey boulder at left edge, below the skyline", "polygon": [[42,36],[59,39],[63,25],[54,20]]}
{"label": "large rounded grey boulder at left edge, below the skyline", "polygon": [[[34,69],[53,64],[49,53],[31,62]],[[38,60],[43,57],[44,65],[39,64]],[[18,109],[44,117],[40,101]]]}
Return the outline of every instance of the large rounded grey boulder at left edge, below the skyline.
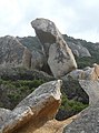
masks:
{"label": "large rounded grey boulder at left edge, below the skyline", "polygon": [[0,38],[0,66],[30,68],[31,53],[16,38]]}

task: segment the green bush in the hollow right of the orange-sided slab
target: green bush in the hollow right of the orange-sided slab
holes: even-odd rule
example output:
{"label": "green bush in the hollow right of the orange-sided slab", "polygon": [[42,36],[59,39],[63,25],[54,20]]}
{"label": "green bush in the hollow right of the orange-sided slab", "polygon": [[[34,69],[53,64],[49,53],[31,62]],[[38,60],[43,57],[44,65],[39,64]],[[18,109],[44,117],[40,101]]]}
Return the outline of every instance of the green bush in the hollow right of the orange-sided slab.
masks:
{"label": "green bush in the hollow right of the orange-sided slab", "polygon": [[59,121],[66,120],[80,111],[82,111],[85,108],[87,108],[88,104],[83,104],[81,102],[69,100],[67,95],[62,95],[62,102],[59,108],[59,111],[56,115],[56,119]]}

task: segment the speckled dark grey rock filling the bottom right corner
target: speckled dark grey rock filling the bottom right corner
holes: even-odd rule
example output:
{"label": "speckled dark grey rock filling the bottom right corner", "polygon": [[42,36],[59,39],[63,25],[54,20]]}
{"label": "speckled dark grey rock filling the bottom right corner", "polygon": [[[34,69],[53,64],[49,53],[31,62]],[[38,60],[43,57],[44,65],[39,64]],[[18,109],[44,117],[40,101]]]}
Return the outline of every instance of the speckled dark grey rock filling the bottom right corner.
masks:
{"label": "speckled dark grey rock filling the bottom right corner", "polygon": [[99,133],[99,101],[83,110],[62,133]]}

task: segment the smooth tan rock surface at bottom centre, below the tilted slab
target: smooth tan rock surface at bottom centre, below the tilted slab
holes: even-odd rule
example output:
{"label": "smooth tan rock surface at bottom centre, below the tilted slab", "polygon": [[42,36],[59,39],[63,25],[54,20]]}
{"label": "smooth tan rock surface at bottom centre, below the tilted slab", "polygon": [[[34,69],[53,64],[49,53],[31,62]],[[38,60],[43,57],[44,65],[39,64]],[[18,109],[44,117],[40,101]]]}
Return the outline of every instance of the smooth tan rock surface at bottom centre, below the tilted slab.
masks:
{"label": "smooth tan rock surface at bottom centre, below the tilted slab", "polygon": [[[46,122],[43,125],[42,123],[39,123],[39,126],[37,127],[37,130],[34,130],[36,129],[34,126],[31,126],[32,130],[31,129],[28,130],[27,133],[62,133],[63,126],[66,124],[67,125],[70,124],[76,117],[77,115],[69,117],[68,120],[65,120],[65,121],[57,121],[53,119]],[[20,133],[23,133],[23,132],[20,131]]]}

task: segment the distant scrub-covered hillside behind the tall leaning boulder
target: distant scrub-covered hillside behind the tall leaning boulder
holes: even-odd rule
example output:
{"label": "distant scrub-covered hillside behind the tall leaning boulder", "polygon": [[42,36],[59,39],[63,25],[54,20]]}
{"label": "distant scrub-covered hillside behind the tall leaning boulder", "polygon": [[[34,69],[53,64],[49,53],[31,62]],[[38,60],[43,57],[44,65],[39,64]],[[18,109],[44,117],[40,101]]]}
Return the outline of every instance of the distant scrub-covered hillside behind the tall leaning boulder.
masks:
{"label": "distant scrub-covered hillside behind the tall leaning boulder", "polygon": [[[73,43],[81,49],[79,53],[80,55],[79,57],[75,55],[79,69],[83,69],[86,66],[92,66],[92,64],[96,62],[99,63],[99,58],[98,58],[99,43],[87,42],[86,40],[82,39],[75,39],[72,37],[68,37],[67,34],[63,34],[63,38],[70,48],[73,47],[72,45]],[[17,37],[17,39],[29,50],[38,49],[40,52],[42,51],[42,45],[37,37],[24,37],[24,38]],[[87,52],[85,51],[83,57],[81,57],[81,52],[83,52],[81,47],[88,50]],[[88,52],[90,53],[90,55],[88,54]]]}

